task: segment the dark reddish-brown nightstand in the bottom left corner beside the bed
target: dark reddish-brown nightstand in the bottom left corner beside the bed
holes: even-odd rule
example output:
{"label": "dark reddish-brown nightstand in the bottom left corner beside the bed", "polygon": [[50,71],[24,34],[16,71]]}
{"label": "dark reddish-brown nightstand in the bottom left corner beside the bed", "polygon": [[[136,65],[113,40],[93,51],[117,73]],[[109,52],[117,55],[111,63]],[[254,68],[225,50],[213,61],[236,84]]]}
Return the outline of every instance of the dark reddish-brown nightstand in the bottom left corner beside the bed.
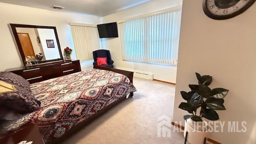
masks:
{"label": "dark reddish-brown nightstand in the bottom left corner beside the bed", "polygon": [[44,144],[42,138],[38,126],[33,124],[16,132],[12,136],[0,140],[0,144],[18,144],[22,141],[32,142],[32,144]]}

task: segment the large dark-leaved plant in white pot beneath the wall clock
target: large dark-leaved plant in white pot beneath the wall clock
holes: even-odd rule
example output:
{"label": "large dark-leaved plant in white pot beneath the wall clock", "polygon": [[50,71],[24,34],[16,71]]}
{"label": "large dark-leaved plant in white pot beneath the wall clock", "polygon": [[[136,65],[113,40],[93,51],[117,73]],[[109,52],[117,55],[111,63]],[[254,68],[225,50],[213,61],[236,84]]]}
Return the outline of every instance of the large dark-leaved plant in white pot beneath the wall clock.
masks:
{"label": "large dark-leaved plant in white pot beneath the wall clock", "polygon": [[[224,97],[228,90],[224,88],[210,89],[208,86],[212,83],[212,76],[201,76],[196,73],[198,84],[189,84],[190,92],[181,91],[182,98],[187,102],[182,102],[179,108],[188,111],[190,114],[184,116],[185,130],[188,132],[187,141],[191,144],[203,144],[204,138],[208,137],[207,122],[208,120],[219,120],[216,110],[226,110]],[[200,112],[197,109],[201,108]]]}

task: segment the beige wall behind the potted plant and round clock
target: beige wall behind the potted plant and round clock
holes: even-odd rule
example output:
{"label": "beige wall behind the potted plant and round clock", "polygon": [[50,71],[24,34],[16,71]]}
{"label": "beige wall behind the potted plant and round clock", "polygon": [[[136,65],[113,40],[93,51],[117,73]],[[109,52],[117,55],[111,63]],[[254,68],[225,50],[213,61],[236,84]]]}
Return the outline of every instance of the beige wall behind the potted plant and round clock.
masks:
{"label": "beige wall behind the potted plant and round clock", "polygon": [[[180,91],[196,84],[195,72],[213,77],[211,88],[229,89],[220,121],[246,121],[246,133],[212,133],[223,144],[256,144],[256,3],[228,20],[213,20],[202,10],[202,0],[184,0],[173,121],[187,114]],[[241,126],[241,125],[240,125]],[[240,128],[239,128],[240,129]]]}

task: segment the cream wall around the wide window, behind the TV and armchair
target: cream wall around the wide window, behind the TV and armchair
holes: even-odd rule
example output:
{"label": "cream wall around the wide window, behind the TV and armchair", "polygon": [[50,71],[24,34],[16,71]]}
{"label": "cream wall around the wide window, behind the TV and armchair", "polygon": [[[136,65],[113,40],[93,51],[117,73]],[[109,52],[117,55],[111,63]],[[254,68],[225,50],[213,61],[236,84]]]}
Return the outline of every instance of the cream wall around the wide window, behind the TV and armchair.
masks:
{"label": "cream wall around the wide window, behind the TV and armchair", "polygon": [[[110,14],[101,18],[101,23],[117,22],[126,18],[140,16],[166,8],[182,4],[182,0],[154,0],[140,6],[136,6],[115,14]],[[118,25],[118,31],[120,31]],[[114,66],[130,70],[154,73],[154,78],[167,82],[176,82],[176,66],[161,66],[155,64],[144,64],[137,62],[125,62],[122,60],[121,44],[119,38],[104,38],[106,49],[110,50],[111,57],[114,60]]]}

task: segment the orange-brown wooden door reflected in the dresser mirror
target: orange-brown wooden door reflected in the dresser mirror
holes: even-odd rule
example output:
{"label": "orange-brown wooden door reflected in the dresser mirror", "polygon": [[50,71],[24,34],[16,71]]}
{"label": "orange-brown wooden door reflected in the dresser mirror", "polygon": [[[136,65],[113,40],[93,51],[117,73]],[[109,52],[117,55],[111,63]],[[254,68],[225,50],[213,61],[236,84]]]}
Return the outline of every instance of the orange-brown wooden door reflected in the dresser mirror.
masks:
{"label": "orange-brown wooden door reflected in the dresser mirror", "polygon": [[26,56],[35,56],[35,52],[28,33],[18,33],[22,50]]}

